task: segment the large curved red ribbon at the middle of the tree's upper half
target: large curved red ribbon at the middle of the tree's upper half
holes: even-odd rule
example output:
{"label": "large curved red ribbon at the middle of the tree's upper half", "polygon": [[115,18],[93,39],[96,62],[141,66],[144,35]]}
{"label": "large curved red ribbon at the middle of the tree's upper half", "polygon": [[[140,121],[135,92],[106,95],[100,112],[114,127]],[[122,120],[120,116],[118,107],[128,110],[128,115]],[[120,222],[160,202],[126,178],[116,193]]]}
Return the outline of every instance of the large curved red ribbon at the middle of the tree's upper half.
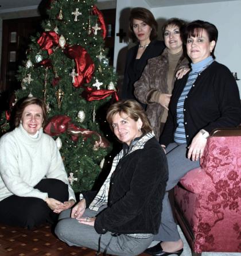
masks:
{"label": "large curved red ribbon at the middle of the tree's upper half", "polygon": [[64,50],[65,55],[75,60],[77,73],[74,87],[80,87],[84,83],[90,83],[92,74],[95,71],[95,64],[88,52],[80,45],[67,46]]}

